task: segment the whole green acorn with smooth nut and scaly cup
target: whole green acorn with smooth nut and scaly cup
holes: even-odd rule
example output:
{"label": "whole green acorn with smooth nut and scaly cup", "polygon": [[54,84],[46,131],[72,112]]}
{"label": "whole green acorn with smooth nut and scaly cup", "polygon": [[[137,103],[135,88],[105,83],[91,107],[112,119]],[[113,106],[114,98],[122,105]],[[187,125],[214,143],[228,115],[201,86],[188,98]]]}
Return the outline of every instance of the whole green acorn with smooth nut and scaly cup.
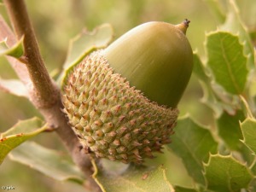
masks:
{"label": "whole green acorn with smooth nut and scaly cup", "polygon": [[84,151],[141,164],[171,143],[193,67],[188,26],[189,20],[145,23],[74,68],[63,111]]}

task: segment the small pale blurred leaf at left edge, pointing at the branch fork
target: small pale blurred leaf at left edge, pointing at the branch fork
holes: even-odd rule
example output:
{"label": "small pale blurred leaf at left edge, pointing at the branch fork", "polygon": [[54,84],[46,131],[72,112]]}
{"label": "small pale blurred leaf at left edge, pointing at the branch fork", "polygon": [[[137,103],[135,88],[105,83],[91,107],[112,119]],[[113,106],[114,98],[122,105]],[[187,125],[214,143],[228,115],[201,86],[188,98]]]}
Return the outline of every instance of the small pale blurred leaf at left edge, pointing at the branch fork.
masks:
{"label": "small pale blurred leaf at left edge, pointing at the branch fork", "polygon": [[0,90],[4,90],[15,96],[24,96],[26,98],[29,97],[25,85],[17,79],[0,78]]}

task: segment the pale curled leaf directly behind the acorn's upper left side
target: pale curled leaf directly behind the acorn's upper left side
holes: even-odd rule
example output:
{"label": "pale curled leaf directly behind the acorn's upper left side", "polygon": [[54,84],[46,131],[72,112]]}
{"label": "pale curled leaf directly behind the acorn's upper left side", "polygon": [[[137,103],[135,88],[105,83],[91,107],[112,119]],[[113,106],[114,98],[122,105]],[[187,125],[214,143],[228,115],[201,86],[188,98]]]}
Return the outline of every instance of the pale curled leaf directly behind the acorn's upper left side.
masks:
{"label": "pale curled leaf directly behind the acorn's upper left side", "polygon": [[81,32],[76,38],[71,39],[63,72],[58,80],[61,87],[65,83],[67,74],[84,59],[85,55],[107,47],[112,39],[113,28],[109,24],[98,26],[93,32]]}

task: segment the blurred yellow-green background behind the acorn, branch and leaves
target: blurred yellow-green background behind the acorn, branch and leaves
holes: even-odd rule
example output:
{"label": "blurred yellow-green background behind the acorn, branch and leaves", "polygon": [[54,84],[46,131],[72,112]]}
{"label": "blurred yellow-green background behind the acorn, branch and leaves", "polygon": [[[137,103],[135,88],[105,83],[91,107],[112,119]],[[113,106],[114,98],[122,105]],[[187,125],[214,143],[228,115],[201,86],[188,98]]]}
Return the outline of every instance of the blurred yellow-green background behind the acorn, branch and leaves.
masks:
{"label": "blurred yellow-green background behind the acorn, branch and leaves", "polygon": [[[49,73],[61,71],[70,38],[76,36],[83,28],[92,31],[102,23],[110,23],[113,26],[115,38],[118,38],[143,22],[162,20],[177,24],[188,18],[191,23],[187,37],[192,49],[197,50],[203,58],[205,34],[216,30],[220,24],[214,15],[211,2],[210,0],[26,0],[28,13],[35,27],[38,44]],[[225,13],[227,0],[218,2]],[[256,1],[237,0],[236,3],[247,28],[255,31]],[[7,18],[3,5],[0,6],[0,12]],[[3,57],[0,58],[0,77],[3,79],[16,77]],[[182,115],[190,113],[194,119],[209,125],[212,121],[212,112],[201,104],[202,94],[200,84],[192,75],[179,109]],[[27,119],[35,115],[40,117],[37,110],[26,99],[0,91],[0,132],[9,129],[18,119]],[[49,148],[62,148],[55,134],[44,133],[35,140]],[[4,160],[3,165],[0,166],[0,187],[3,185],[13,185],[16,188],[15,191],[24,192],[82,191],[75,183],[55,182],[9,159]]]}

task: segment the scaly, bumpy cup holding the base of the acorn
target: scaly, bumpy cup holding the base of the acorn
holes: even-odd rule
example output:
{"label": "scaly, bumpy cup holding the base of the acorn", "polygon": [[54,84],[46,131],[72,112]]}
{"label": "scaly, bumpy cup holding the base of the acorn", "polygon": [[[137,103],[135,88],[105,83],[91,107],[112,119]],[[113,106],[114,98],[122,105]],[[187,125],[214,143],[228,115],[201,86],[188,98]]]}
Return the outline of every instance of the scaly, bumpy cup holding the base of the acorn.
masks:
{"label": "scaly, bumpy cup holding the base of the acorn", "polygon": [[74,68],[64,92],[63,110],[87,153],[140,164],[171,143],[177,108],[149,101],[113,73],[101,50]]}

